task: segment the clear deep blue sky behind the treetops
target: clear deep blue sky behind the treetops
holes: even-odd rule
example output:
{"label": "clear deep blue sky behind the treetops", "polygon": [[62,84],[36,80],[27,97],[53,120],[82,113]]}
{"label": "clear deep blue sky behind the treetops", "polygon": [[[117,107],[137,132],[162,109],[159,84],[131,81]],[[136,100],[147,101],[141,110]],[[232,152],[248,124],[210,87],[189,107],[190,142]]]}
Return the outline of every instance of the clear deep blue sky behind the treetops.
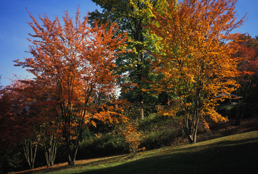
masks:
{"label": "clear deep blue sky behind the treetops", "polygon": [[[75,16],[78,4],[81,16],[88,11],[93,11],[96,6],[91,0],[0,0],[0,75],[1,85],[8,85],[12,74],[18,77],[29,75],[21,67],[14,67],[13,60],[30,57],[24,51],[28,50],[28,33],[33,33],[26,22],[31,22],[27,8],[30,13],[38,19],[38,13],[47,14],[50,19],[55,16],[62,17],[64,11],[68,10],[70,16]],[[241,18],[247,12],[247,21],[235,32],[249,33],[252,37],[258,35],[258,0],[238,0],[236,10]],[[5,79],[6,78],[6,79]]]}

